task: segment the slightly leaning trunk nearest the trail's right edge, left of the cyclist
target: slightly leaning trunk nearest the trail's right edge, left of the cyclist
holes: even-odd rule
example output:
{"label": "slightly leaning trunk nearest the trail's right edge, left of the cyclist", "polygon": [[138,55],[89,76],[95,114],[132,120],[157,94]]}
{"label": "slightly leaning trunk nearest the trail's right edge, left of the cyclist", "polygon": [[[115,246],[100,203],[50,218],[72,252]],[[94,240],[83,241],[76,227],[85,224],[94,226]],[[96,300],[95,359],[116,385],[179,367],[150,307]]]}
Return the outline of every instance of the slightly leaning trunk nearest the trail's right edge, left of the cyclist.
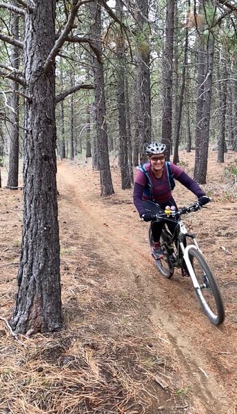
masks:
{"label": "slightly leaning trunk nearest the trail's right edge, left of the cyclist", "polygon": [[91,11],[93,19],[91,27],[92,41],[97,50],[97,55],[94,57],[93,62],[97,149],[101,179],[101,196],[105,197],[113,194],[114,188],[110,172],[110,158],[107,145],[107,124],[105,119],[105,81],[101,49],[101,5],[96,2],[91,3]]}

